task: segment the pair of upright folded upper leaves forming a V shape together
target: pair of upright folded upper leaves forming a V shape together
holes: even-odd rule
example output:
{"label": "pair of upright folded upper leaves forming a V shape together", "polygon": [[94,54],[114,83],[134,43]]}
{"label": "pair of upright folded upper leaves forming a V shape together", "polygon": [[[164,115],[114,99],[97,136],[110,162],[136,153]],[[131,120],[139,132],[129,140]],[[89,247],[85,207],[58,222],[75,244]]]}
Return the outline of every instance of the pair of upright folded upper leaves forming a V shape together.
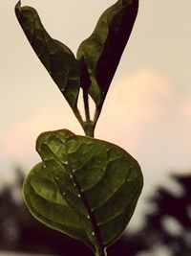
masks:
{"label": "pair of upright folded upper leaves forming a V shape together", "polygon": [[138,12],[138,0],[118,0],[106,10],[100,16],[93,34],[80,44],[77,58],[66,45],[46,32],[32,7],[21,7],[19,1],[15,12],[33,50],[69,105],[76,108],[81,87],[93,98],[100,112],[131,34]]}

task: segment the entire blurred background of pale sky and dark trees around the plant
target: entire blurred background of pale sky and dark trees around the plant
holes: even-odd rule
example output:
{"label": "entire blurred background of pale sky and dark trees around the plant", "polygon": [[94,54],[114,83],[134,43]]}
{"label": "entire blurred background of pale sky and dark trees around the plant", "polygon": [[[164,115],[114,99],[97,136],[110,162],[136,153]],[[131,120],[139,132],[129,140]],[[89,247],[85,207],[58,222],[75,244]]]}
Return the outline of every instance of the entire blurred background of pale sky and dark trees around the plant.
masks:
{"label": "entire blurred background of pale sky and dark trees around the plant", "polygon": [[[116,1],[25,0],[47,31],[74,53]],[[37,59],[14,15],[16,1],[0,9],[0,255],[92,255],[86,247],[34,221],[21,184],[40,161],[42,131],[82,130]],[[191,254],[191,2],[142,0],[138,18],[96,128],[131,153],[144,189],[136,213],[109,255]],[[19,167],[18,167],[19,166]],[[8,254],[9,253],[9,254]]]}

